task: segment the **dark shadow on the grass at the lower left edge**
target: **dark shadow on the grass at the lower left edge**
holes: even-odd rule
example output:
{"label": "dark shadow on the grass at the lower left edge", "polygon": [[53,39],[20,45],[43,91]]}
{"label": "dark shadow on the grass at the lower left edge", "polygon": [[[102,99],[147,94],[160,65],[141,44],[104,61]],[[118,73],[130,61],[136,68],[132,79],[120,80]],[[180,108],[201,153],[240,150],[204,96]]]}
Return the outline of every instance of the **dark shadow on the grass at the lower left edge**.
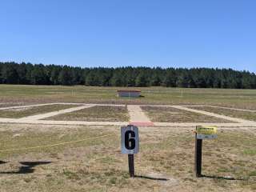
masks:
{"label": "dark shadow on the grass at the lower left edge", "polygon": [[[6,163],[6,162],[3,162]],[[22,164],[18,171],[0,172],[0,174],[32,174],[34,173],[34,167],[40,165],[50,164],[51,162],[19,162]],[[2,164],[2,162],[0,162]]]}

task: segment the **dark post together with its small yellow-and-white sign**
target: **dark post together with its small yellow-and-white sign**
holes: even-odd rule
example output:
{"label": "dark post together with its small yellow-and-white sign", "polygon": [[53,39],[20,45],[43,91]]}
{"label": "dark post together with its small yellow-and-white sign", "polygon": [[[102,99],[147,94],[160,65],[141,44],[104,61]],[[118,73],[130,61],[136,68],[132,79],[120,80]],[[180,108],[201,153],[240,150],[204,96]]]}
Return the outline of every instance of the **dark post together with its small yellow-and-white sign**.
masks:
{"label": "dark post together with its small yellow-and-white sign", "polygon": [[195,134],[194,171],[197,178],[202,177],[202,139],[217,138],[217,127],[197,126]]}

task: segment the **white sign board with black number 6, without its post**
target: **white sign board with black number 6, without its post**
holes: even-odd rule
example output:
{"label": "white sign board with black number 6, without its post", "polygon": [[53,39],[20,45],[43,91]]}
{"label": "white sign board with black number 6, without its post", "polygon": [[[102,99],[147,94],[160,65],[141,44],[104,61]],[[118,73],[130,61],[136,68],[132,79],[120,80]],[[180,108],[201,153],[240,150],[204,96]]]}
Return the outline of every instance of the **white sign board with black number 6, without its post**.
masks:
{"label": "white sign board with black number 6, without its post", "polygon": [[122,154],[138,153],[138,127],[137,126],[121,127],[121,150],[122,150]]}

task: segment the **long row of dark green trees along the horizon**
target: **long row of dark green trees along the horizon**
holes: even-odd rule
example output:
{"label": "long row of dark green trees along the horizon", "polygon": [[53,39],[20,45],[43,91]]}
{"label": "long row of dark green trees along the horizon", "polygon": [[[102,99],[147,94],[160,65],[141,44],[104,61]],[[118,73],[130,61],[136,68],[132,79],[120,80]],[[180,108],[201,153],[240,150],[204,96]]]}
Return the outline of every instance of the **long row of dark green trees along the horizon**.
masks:
{"label": "long row of dark green trees along the horizon", "polygon": [[118,67],[82,68],[0,62],[0,83],[22,85],[167,86],[255,89],[249,71],[210,68]]}

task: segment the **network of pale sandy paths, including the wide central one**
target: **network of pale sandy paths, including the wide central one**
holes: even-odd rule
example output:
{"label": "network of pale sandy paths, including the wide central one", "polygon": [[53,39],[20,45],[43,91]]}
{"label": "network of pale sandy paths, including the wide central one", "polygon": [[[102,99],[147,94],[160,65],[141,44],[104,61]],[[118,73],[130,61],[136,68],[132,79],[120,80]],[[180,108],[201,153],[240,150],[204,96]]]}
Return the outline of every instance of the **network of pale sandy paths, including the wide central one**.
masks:
{"label": "network of pale sandy paths, including the wide central one", "polygon": [[[129,122],[83,122],[83,121],[54,121],[54,120],[42,120],[44,118],[50,118],[52,116],[58,114],[66,114],[71,113],[76,110],[82,110],[85,108],[89,108],[92,106],[125,106],[125,105],[111,105],[111,104],[86,104],[86,103],[45,103],[45,104],[36,104],[36,105],[27,105],[27,106],[10,106],[10,107],[2,107],[0,110],[15,110],[15,109],[22,109],[24,107],[32,107],[32,106],[47,106],[47,105],[54,105],[54,104],[68,104],[74,105],[75,107],[71,107],[66,110],[58,110],[46,114],[38,114],[32,115],[25,118],[0,118],[1,123],[28,123],[28,124],[43,124],[43,125],[88,125],[88,126],[124,126],[127,125]],[[82,106],[81,106],[82,105]],[[143,106],[163,106],[163,105],[143,105]],[[204,110],[194,110],[190,109],[186,106],[170,106],[177,108],[179,110],[186,110],[193,113],[204,114],[215,118],[222,118],[229,120],[231,122],[238,122],[238,123],[210,123],[211,126],[219,126],[219,127],[256,127],[256,122],[248,121],[242,118],[230,118],[225,115],[214,114],[210,112],[206,112]],[[218,107],[218,106],[213,106]],[[224,108],[224,107],[223,107]],[[225,107],[226,108],[226,107]],[[151,122],[150,118],[146,116],[144,111],[142,111],[139,105],[127,105],[128,112],[130,114],[130,123],[138,123],[139,126],[171,126],[171,127],[191,127],[197,126],[198,123],[172,123],[172,122]],[[241,110],[241,109],[234,109],[232,110]],[[247,111],[247,110],[246,110]],[[251,111],[251,110],[250,110]],[[200,125],[209,125],[209,123],[200,123]]]}

